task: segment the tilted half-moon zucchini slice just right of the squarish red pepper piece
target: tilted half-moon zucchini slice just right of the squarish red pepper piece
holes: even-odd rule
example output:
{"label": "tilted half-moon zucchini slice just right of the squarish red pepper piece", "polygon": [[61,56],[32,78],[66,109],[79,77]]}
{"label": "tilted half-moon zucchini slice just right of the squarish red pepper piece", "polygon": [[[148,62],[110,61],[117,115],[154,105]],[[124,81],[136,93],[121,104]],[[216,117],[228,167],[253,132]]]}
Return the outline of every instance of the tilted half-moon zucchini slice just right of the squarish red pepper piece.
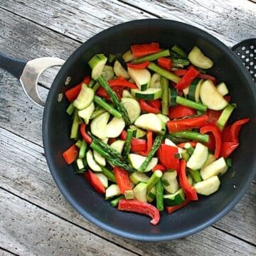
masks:
{"label": "tilted half-moon zucchini slice just right of the squarish red pepper piece", "polygon": [[201,169],[203,164],[206,163],[206,160],[208,159],[208,147],[197,143],[195,150],[193,151],[193,154],[191,155],[190,159],[188,159],[187,167],[192,170],[198,170]]}

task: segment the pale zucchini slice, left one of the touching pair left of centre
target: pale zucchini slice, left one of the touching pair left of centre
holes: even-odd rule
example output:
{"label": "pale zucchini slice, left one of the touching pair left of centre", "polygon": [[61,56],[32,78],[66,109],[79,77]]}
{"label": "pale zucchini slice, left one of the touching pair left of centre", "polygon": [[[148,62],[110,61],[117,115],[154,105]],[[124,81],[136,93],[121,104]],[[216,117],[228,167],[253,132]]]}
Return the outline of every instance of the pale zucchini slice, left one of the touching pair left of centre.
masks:
{"label": "pale zucchini slice, left one of the touching pair left of centre", "polygon": [[92,134],[100,139],[105,139],[107,137],[107,122],[109,119],[109,112],[104,112],[98,117],[95,117],[95,119],[92,119],[92,123],[90,124]]}

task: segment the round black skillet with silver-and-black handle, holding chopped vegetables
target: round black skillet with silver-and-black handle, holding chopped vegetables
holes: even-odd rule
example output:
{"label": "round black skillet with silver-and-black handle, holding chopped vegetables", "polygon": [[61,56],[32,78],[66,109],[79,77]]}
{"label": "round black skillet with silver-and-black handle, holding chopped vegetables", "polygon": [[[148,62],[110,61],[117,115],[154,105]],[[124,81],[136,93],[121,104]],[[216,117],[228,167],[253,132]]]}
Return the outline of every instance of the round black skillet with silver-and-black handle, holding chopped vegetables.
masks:
{"label": "round black skillet with silver-and-black handle, holding chopped vegetables", "polygon": [[[90,187],[82,176],[75,175],[73,167],[65,164],[62,152],[73,142],[69,139],[70,117],[65,113],[68,101],[60,93],[76,85],[90,72],[87,61],[95,53],[124,53],[134,43],[156,41],[162,48],[174,44],[189,51],[194,45],[214,60],[209,70],[218,81],[225,81],[238,109],[233,120],[250,117],[242,128],[240,146],[233,154],[233,167],[221,177],[218,193],[200,197],[195,203],[171,215],[161,213],[159,225],[153,226],[144,215],[119,212]],[[252,46],[256,49],[256,45]],[[252,49],[253,50],[253,49]],[[243,54],[240,52],[240,55]],[[50,63],[48,63],[50,61]],[[20,78],[27,95],[43,105],[36,93],[35,80],[43,69],[62,65],[58,58],[43,58],[25,63],[1,55],[0,67]],[[24,68],[25,67],[25,68]],[[255,67],[256,68],[256,67]],[[68,78],[68,79],[67,79]],[[71,82],[70,82],[71,79]],[[67,85],[70,82],[69,85]],[[66,84],[66,85],[65,85]],[[29,91],[28,91],[29,90]],[[43,145],[51,174],[58,188],[70,204],[85,218],[111,233],[137,240],[171,240],[196,233],[215,223],[228,213],[242,198],[256,172],[256,90],[250,73],[235,54],[218,39],[198,28],[176,21],[147,19],[131,21],[108,28],[92,37],[75,50],[65,61],[50,88],[43,113]],[[229,174],[235,171],[235,176]],[[50,193],[50,191],[49,191]]]}

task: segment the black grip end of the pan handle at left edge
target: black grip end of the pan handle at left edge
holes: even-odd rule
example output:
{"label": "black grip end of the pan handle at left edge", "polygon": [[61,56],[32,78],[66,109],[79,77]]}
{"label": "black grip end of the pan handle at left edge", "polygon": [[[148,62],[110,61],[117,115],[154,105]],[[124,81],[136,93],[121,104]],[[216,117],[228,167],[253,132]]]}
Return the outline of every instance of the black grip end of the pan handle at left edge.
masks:
{"label": "black grip end of the pan handle at left edge", "polygon": [[25,60],[18,60],[0,52],[0,68],[8,71],[18,79],[21,77],[26,63],[27,62]]}

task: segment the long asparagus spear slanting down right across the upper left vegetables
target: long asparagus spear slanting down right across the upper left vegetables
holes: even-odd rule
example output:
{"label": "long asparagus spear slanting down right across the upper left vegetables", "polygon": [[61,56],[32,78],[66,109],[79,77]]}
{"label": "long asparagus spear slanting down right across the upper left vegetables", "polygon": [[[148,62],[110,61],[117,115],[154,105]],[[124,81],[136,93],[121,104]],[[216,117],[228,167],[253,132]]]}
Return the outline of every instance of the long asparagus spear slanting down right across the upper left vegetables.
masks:
{"label": "long asparagus spear slanting down right across the upper left vegetables", "polygon": [[131,124],[131,120],[128,117],[128,112],[125,109],[124,105],[122,105],[121,102],[119,102],[118,97],[116,93],[111,89],[110,85],[108,84],[107,80],[100,75],[99,78],[97,78],[97,82],[100,83],[100,85],[107,91],[107,93],[110,95],[110,98],[114,105],[117,107],[117,110],[122,113],[122,117],[124,118],[124,122],[126,124]]}

